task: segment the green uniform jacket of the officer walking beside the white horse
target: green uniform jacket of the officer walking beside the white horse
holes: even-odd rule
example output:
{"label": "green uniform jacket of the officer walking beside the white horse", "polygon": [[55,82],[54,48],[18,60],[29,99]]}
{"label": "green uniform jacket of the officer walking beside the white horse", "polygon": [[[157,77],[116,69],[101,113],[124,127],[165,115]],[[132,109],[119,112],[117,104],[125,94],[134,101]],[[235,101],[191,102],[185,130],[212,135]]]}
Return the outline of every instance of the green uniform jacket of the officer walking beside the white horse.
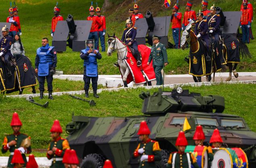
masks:
{"label": "green uniform jacket of the officer walking beside the white horse", "polygon": [[158,45],[153,45],[151,48],[151,53],[148,58],[148,62],[153,60],[153,67],[154,66],[164,66],[164,63],[168,63],[167,58],[167,51],[166,47],[158,43]]}

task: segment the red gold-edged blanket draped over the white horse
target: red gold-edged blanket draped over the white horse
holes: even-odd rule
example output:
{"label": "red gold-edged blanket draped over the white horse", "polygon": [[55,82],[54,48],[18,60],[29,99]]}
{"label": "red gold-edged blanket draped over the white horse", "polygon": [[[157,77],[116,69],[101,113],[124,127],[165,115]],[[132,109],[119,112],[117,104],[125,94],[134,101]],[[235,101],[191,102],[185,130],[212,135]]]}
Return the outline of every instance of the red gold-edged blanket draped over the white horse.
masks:
{"label": "red gold-edged blanket draped over the white horse", "polygon": [[146,45],[138,45],[138,50],[142,55],[142,66],[139,67],[137,66],[137,61],[133,57],[131,50],[127,47],[127,59],[125,59],[125,62],[131,71],[131,73],[129,73],[129,75],[127,76],[127,84],[129,84],[132,81],[135,84],[144,84],[146,83],[145,78],[148,81],[156,80],[154,68],[152,66],[152,61],[150,65],[147,64],[151,49]]}

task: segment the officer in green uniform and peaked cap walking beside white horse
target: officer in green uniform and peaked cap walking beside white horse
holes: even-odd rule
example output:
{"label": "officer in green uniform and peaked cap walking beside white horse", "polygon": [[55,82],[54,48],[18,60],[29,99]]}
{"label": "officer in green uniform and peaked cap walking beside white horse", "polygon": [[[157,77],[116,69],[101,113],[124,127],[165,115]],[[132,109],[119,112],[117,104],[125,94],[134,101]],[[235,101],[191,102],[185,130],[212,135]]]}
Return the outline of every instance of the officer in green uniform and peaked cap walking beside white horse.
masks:
{"label": "officer in green uniform and peaked cap walking beside white horse", "polygon": [[161,70],[164,66],[167,66],[168,64],[167,51],[166,47],[163,44],[159,43],[160,37],[153,35],[152,40],[153,46],[148,58],[148,65],[150,65],[150,62],[153,60],[153,68],[156,74],[156,85],[161,85],[164,82]]}

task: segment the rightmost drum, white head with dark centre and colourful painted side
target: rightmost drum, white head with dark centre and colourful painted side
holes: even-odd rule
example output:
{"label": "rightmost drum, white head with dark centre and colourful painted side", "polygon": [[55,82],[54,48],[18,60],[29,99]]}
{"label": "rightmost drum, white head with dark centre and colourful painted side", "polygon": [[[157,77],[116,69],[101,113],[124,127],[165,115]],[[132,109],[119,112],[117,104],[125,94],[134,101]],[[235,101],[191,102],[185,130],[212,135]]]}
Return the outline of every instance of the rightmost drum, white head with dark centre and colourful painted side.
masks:
{"label": "rightmost drum, white head with dark centre and colourful painted side", "polygon": [[248,159],[241,148],[219,148],[214,152],[212,168],[248,168]]}

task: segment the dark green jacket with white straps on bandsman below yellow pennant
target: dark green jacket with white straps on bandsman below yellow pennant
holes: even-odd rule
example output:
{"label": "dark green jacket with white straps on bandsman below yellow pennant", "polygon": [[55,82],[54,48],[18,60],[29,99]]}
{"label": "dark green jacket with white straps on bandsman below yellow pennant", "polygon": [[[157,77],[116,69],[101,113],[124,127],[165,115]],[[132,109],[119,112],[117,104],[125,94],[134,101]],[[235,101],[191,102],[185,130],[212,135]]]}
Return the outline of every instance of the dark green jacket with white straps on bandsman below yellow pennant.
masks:
{"label": "dark green jacket with white straps on bandsman below yellow pennant", "polygon": [[[191,165],[194,166],[194,168],[199,168],[196,158],[194,158],[193,154],[189,154]],[[173,154],[170,154],[167,168],[172,168],[173,163]],[[184,152],[177,152],[175,157],[175,164],[174,168],[189,168],[188,160],[187,160],[187,153]]]}

